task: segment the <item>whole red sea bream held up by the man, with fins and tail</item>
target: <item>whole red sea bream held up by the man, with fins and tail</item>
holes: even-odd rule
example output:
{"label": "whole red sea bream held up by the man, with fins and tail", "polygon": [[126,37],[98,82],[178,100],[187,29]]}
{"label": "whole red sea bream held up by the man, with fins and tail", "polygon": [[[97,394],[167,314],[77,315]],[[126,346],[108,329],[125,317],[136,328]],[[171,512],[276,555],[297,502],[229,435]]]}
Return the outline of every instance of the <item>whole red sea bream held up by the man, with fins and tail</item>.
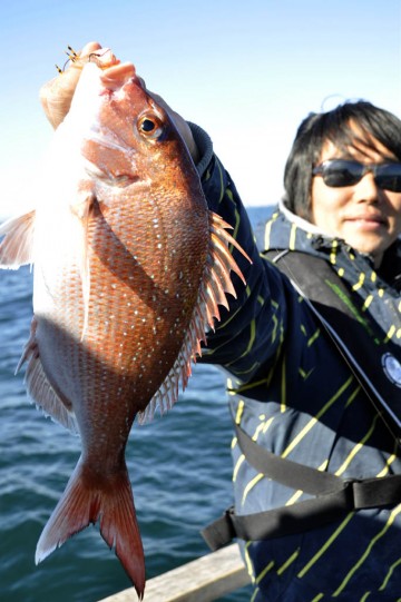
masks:
{"label": "whole red sea bream held up by the man, with fins and tail", "polygon": [[137,415],[175,403],[217,305],[234,294],[229,272],[242,274],[172,119],[131,63],[105,56],[82,66],[32,211],[0,227],[0,264],[35,266],[20,364],[30,397],[81,440],[36,560],[99,521],[141,598],[128,434]]}

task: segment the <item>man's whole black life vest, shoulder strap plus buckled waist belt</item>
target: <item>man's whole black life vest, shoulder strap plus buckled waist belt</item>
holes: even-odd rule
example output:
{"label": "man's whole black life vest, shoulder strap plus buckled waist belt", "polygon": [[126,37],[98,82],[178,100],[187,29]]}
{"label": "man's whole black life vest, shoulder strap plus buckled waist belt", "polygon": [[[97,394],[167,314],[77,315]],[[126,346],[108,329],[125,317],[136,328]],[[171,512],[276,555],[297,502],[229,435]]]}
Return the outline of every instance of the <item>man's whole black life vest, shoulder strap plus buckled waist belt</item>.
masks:
{"label": "man's whole black life vest, shoulder strap plus buckled waist belt", "polygon": [[[330,335],[339,354],[374,404],[389,430],[401,441],[401,364],[376,327],[353,305],[341,278],[321,258],[306,253],[267,251],[292,282]],[[238,445],[247,462],[260,473],[294,490],[314,495],[291,506],[248,515],[229,507],[202,531],[212,550],[234,537],[260,541],[323,526],[352,510],[392,506],[401,502],[401,475],[342,480],[282,458],[257,445],[236,425]]]}

